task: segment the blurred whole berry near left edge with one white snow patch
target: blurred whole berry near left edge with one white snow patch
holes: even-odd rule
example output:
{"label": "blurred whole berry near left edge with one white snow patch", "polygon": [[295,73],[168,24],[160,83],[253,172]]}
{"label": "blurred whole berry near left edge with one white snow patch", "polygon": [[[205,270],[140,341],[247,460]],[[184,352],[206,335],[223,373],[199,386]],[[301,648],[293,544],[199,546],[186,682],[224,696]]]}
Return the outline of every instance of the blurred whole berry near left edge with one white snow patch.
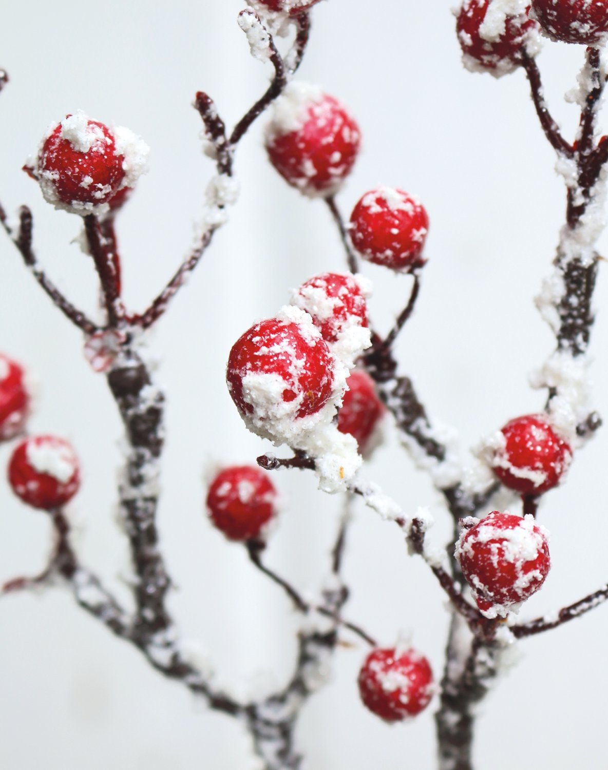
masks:
{"label": "blurred whole berry near left edge with one white snow patch", "polygon": [[30,437],[12,454],[8,482],[25,503],[50,511],[66,504],[78,491],[78,458],[62,438]]}

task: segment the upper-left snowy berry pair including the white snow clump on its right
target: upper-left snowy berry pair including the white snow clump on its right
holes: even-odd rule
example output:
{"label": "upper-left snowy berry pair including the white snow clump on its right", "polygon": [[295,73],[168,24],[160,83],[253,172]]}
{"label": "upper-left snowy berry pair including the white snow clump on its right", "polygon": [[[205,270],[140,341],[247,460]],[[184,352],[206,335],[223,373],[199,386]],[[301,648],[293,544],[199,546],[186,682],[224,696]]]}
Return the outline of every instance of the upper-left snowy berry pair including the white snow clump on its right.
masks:
{"label": "upper-left snowy berry pair including the white snow clump on its right", "polygon": [[57,208],[106,213],[122,203],[120,192],[132,188],[146,170],[147,152],[145,142],[129,129],[110,129],[76,112],[50,127],[32,176]]}

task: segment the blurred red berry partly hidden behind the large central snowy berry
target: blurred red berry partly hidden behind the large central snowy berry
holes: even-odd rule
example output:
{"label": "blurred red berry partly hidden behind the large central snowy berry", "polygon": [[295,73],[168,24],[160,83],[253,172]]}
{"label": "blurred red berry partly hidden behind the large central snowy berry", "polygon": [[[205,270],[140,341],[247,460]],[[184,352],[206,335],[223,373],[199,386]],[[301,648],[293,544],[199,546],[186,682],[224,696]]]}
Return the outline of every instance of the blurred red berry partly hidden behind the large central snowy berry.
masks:
{"label": "blurred red berry partly hidden behind the large central snowy berry", "polygon": [[385,413],[385,405],[378,398],[374,380],[367,372],[355,370],[346,380],[348,390],[338,412],[338,430],[357,439],[359,452],[368,445],[378,420]]}

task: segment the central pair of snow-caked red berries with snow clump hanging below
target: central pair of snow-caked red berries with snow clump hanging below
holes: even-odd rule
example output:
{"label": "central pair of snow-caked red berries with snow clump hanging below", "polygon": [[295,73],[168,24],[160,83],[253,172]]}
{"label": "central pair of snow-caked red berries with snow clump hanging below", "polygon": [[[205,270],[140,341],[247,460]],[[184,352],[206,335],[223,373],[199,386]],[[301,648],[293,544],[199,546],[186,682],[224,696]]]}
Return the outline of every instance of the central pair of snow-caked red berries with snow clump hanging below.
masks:
{"label": "central pair of snow-caked red berries with snow clump hanging below", "polygon": [[240,336],[228,358],[228,389],[247,427],[314,457],[328,491],[343,488],[361,464],[354,437],[332,421],[349,370],[370,344],[363,286],[351,275],[314,276],[294,292],[310,313],[284,306]]}

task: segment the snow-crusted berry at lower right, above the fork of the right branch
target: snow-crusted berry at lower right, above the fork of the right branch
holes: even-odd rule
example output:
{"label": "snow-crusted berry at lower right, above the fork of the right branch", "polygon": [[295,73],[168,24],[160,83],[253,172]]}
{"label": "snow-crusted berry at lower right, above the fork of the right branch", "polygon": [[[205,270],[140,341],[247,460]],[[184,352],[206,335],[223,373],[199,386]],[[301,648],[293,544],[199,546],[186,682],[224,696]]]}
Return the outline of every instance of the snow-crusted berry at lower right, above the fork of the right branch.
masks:
{"label": "snow-crusted berry at lower right, above the fork of the right branch", "polygon": [[465,528],[455,556],[477,606],[486,618],[505,618],[542,586],[549,572],[549,544],[534,517],[492,511],[481,521],[462,520]]}

